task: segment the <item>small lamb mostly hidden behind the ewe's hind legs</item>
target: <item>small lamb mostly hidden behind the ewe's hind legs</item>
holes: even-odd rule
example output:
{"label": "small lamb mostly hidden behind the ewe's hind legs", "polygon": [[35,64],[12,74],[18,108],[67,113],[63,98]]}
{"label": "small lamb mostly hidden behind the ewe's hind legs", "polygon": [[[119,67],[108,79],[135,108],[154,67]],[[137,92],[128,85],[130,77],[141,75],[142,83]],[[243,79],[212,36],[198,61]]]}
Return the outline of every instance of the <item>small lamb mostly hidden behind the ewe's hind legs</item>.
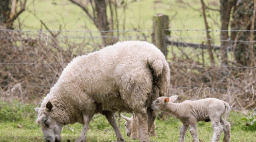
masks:
{"label": "small lamb mostly hidden behind the ewe's hind legs", "polygon": [[[125,129],[126,135],[130,136],[133,139],[139,139],[139,120],[138,117],[133,113],[132,117],[126,117],[121,114],[121,116],[125,119]],[[157,136],[155,132],[155,122],[149,132],[150,136]]]}

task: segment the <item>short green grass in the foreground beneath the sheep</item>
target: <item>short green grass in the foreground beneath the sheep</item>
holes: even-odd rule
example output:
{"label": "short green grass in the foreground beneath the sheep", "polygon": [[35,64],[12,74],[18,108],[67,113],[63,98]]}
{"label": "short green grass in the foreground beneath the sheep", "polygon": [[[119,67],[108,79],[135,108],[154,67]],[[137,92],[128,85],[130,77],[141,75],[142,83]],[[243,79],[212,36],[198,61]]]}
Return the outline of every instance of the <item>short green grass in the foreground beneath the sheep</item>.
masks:
{"label": "short green grass in the foreground beneath the sheep", "polygon": [[[20,103],[7,104],[1,101],[0,107],[15,106],[13,109],[19,108]],[[1,115],[0,121],[0,142],[44,142],[44,136],[42,130],[38,124],[36,124],[37,114],[34,112],[36,105],[26,104],[25,111],[22,108],[21,119],[16,120],[5,120],[3,121],[4,115]],[[33,111],[32,111],[33,110]],[[126,116],[131,117],[130,114]],[[246,123],[242,118],[247,116],[242,113],[231,111],[228,121],[232,124],[231,126],[231,142],[254,142],[256,133],[255,131],[246,130]],[[118,119],[118,117],[116,117]],[[126,142],[138,142],[139,140],[133,140],[126,136],[125,133],[125,120],[121,118],[121,133],[125,137]],[[22,126],[22,128],[19,127]],[[182,123],[178,119],[173,117],[167,118],[163,121],[156,119],[156,132],[158,137],[151,137],[151,142],[177,142],[179,138],[179,128]],[[213,130],[211,123],[205,123],[204,121],[198,122],[198,137],[201,142],[210,142],[212,138]],[[62,141],[65,142],[70,140],[74,142],[80,136],[82,125],[79,123],[68,124],[63,127],[62,130]],[[223,133],[221,136],[223,139]],[[115,132],[111,125],[107,122],[107,119],[103,115],[96,114],[93,117],[93,121],[89,124],[89,130],[87,132],[88,142],[113,142],[115,141]],[[189,131],[187,131],[185,142],[191,142],[192,137]]]}

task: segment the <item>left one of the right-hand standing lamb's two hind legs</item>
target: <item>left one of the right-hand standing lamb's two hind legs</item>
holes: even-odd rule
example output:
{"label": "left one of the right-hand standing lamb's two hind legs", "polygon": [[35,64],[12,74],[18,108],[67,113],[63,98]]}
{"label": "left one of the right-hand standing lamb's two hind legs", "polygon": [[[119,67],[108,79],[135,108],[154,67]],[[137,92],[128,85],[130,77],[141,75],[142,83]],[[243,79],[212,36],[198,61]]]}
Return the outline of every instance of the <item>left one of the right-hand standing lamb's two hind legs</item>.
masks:
{"label": "left one of the right-hand standing lamb's two hind legs", "polygon": [[213,136],[212,136],[212,140],[210,142],[218,142],[220,140],[220,135],[222,132],[222,126],[220,125],[220,121],[219,120],[213,120],[212,121],[212,128],[213,128]]}

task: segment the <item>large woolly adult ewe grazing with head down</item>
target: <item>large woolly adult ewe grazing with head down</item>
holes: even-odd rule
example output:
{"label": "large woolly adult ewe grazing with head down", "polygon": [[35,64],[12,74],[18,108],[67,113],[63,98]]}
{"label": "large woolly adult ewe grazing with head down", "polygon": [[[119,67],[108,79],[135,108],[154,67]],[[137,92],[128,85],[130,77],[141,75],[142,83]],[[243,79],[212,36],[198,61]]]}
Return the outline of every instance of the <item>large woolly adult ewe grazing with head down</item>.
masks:
{"label": "large woolly adult ewe grazing with head down", "polygon": [[141,41],[118,42],[74,58],[41,107],[36,108],[37,123],[46,142],[61,141],[63,125],[81,123],[83,129],[75,142],[86,142],[91,118],[101,113],[120,142],[124,138],[115,112],[134,111],[139,119],[140,141],[149,142],[149,130],[157,114],[150,105],[157,97],[167,96],[169,81],[168,63],[157,47]]}

